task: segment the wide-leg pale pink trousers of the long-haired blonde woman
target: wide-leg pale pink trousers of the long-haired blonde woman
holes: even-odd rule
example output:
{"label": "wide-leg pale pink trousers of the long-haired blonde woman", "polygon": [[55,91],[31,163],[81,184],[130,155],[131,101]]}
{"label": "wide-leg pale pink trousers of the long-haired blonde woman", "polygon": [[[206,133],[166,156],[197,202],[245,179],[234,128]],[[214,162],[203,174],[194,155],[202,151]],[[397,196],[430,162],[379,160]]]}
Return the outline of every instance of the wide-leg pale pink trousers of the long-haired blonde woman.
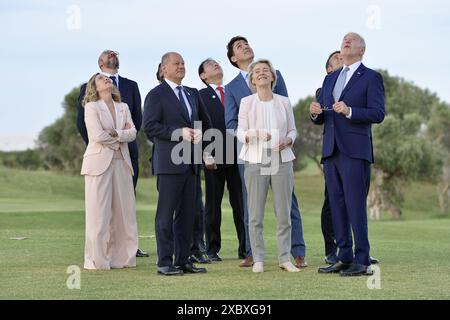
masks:
{"label": "wide-leg pale pink trousers of the long-haired blonde woman", "polygon": [[133,177],[123,159],[101,175],[85,175],[85,269],[136,266],[138,248]]}

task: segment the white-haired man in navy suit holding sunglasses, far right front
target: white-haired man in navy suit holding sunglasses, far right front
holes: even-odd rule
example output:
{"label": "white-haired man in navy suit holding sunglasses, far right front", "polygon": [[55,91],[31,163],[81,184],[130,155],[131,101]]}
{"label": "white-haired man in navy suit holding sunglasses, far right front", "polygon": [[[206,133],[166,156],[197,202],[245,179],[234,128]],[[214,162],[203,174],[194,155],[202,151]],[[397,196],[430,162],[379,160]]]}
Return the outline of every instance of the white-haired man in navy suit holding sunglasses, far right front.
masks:
{"label": "white-haired man in navy suit holding sunglasses, far right front", "polygon": [[[322,162],[339,261],[319,273],[370,275],[367,194],[373,163],[372,123],[384,119],[382,76],[362,63],[364,39],[348,33],[341,45],[342,68],[327,75],[311,120],[324,124]],[[349,237],[353,231],[353,241]]]}

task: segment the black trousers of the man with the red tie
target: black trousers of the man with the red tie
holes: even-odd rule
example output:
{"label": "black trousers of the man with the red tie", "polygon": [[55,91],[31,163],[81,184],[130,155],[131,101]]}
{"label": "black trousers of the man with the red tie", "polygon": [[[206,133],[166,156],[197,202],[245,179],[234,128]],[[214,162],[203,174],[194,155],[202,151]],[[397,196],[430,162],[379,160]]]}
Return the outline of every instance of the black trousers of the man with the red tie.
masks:
{"label": "black trousers of the man with the red tie", "polygon": [[222,198],[227,183],[229,202],[233,210],[233,221],[238,238],[238,256],[245,258],[244,207],[241,178],[237,165],[205,169],[206,185],[206,246],[208,254],[218,253],[221,248],[220,226],[222,223]]}

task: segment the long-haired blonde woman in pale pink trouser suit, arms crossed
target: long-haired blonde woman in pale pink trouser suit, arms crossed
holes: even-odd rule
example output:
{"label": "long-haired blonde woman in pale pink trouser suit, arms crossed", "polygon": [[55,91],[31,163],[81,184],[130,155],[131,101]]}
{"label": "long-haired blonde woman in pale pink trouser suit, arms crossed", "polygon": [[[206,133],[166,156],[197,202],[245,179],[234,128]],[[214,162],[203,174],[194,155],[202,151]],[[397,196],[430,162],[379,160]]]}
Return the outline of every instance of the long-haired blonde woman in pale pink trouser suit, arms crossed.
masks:
{"label": "long-haired blonde woman in pale pink trouser suit, arms crossed", "polygon": [[83,100],[89,144],[85,177],[85,269],[136,266],[138,248],[133,167],[128,142],[136,128],[111,79],[96,73]]}

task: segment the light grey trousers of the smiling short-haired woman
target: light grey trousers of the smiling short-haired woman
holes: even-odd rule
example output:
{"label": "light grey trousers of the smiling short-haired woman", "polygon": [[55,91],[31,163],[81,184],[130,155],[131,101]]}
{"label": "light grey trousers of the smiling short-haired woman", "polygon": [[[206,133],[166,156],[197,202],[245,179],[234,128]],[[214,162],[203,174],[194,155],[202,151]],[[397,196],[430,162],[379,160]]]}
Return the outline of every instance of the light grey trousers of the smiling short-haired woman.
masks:
{"label": "light grey trousers of the smiling short-haired woman", "polygon": [[[273,157],[279,157],[273,153]],[[272,186],[273,208],[277,221],[278,261],[289,261],[291,250],[291,204],[294,189],[292,161],[281,161],[278,170],[266,174],[268,165],[245,164],[245,183],[248,192],[249,233],[253,261],[264,262],[263,220],[269,185]],[[270,167],[270,165],[269,165]]]}

